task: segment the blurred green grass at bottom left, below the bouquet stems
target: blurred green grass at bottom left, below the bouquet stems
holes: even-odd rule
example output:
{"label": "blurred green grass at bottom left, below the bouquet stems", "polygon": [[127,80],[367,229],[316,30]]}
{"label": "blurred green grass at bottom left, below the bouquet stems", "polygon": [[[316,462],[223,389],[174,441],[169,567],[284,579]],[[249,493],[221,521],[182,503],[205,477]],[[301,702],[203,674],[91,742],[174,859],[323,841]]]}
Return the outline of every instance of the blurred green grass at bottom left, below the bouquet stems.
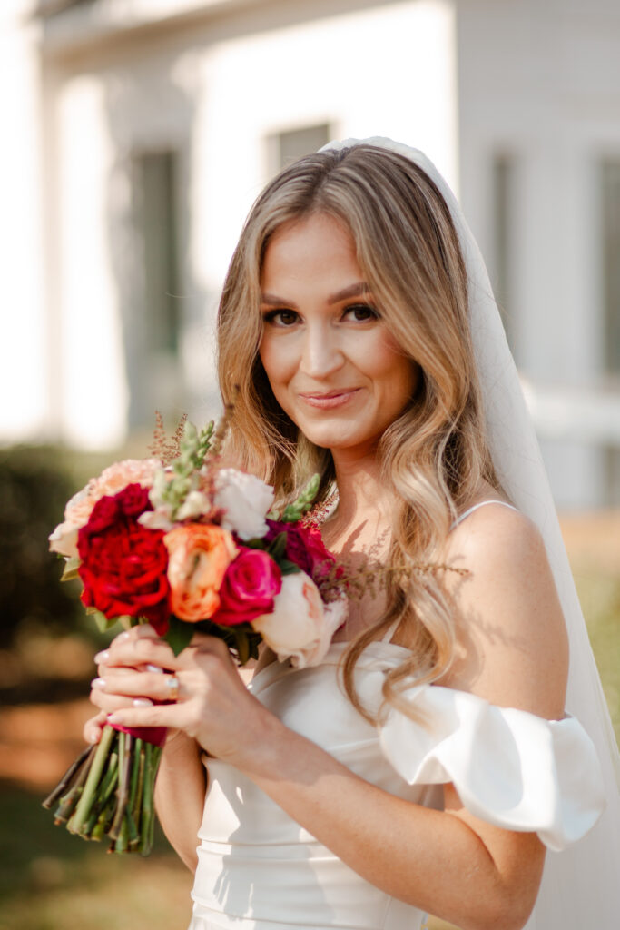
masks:
{"label": "blurred green grass at bottom left, below the bouquet stems", "polygon": [[163,837],[149,858],[108,856],[105,846],[54,827],[41,797],[15,786],[0,793],[2,930],[180,930],[189,923],[191,875]]}

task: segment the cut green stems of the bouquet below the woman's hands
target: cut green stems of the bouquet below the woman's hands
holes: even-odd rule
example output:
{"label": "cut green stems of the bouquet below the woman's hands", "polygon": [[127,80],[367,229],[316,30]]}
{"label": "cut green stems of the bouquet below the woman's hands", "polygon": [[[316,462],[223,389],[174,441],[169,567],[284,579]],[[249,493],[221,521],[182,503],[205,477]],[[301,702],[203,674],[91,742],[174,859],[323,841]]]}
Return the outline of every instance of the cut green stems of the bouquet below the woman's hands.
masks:
{"label": "cut green stems of the bouquet below the woman's hands", "polygon": [[75,760],[43,806],[57,825],[85,840],[110,840],[111,853],[152,849],[153,791],[162,746],[105,726],[97,746]]}

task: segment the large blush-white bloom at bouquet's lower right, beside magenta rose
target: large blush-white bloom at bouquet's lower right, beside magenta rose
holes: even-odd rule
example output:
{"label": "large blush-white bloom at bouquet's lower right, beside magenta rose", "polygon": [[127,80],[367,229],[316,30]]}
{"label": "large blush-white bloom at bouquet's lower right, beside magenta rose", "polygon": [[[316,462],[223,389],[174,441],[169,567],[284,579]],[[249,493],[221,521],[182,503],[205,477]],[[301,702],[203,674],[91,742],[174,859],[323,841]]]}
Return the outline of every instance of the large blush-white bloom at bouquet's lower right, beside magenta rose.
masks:
{"label": "large blush-white bloom at bouquet's lower right, beside magenta rose", "polygon": [[252,620],[252,626],[281,662],[290,658],[298,669],[304,669],[323,661],[346,613],[345,600],[323,604],[312,579],[305,572],[295,572],[282,579],[273,612]]}

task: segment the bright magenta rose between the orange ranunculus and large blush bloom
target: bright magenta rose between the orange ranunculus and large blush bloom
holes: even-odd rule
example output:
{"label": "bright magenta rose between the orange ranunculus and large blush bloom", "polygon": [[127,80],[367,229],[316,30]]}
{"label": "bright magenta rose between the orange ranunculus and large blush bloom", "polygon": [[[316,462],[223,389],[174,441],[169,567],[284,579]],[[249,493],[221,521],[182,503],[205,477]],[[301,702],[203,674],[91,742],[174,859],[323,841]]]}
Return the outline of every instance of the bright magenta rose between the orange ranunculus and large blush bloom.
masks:
{"label": "bright magenta rose between the orange ranunculus and large blush bloom", "polygon": [[270,555],[243,547],[226,570],[219,589],[219,609],[211,619],[231,627],[269,614],[281,589],[282,573]]}

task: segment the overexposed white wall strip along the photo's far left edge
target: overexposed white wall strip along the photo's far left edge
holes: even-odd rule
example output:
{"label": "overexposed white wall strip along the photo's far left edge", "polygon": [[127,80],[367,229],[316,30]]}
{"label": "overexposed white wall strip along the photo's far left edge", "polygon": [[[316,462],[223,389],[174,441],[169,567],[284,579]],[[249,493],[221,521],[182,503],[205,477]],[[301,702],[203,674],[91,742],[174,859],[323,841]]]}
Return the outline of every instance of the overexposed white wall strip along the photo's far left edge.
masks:
{"label": "overexposed white wall strip along the photo's far left edge", "polygon": [[[0,442],[46,435],[38,29],[32,0],[0,8]],[[26,23],[26,24],[24,24]]]}

